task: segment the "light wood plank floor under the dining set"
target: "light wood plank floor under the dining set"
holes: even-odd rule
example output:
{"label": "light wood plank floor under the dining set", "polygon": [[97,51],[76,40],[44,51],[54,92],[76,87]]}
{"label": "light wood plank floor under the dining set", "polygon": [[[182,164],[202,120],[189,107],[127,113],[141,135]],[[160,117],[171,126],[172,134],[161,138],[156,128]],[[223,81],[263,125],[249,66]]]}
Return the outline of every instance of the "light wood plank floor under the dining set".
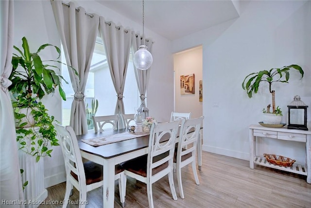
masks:
{"label": "light wood plank floor under the dining set", "polygon": [[[174,201],[168,177],[153,184],[155,208],[311,208],[311,184],[306,176],[274,170],[223,155],[203,151],[202,170],[198,171],[200,185],[196,185],[191,167],[182,169],[185,199],[179,196],[176,173],[174,183],[178,200]],[[116,182],[115,208],[121,208]],[[65,183],[48,188],[46,200],[60,202],[65,194]],[[102,208],[103,189],[88,192],[86,208]],[[74,189],[70,197],[79,199]],[[76,208],[77,205],[70,205]],[[146,208],[146,185],[128,177],[126,208]],[[61,208],[61,205],[40,205],[39,208]]]}

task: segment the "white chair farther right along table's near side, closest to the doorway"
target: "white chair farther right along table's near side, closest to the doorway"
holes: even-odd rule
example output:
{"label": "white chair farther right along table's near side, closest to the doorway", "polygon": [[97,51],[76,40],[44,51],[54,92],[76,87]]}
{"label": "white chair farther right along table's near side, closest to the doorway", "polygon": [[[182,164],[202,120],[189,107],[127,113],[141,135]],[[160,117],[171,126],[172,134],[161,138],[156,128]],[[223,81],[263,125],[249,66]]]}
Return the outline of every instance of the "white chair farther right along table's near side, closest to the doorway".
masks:
{"label": "white chair farther right along table's near side, closest to the doorway", "polygon": [[[185,197],[181,182],[181,168],[191,163],[195,183],[197,185],[200,184],[196,172],[196,151],[197,143],[200,139],[200,128],[203,118],[204,116],[187,120],[184,119],[181,124],[178,146],[175,148],[173,162],[176,164],[178,188],[182,199]],[[183,148],[184,146],[187,146],[188,149]]]}

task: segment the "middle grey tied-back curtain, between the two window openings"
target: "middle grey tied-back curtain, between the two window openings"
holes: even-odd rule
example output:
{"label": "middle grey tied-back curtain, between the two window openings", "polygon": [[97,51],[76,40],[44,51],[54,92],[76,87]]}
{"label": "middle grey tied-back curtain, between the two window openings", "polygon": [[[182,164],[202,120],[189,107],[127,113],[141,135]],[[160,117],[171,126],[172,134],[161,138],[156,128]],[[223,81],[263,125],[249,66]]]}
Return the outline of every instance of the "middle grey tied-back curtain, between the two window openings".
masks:
{"label": "middle grey tied-back curtain, between the two window openings", "polygon": [[123,92],[132,33],[130,30],[124,31],[122,26],[116,28],[113,22],[105,23],[103,17],[100,17],[99,31],[104,41],[110,75],[118,97],[115,114],[124,113]]}

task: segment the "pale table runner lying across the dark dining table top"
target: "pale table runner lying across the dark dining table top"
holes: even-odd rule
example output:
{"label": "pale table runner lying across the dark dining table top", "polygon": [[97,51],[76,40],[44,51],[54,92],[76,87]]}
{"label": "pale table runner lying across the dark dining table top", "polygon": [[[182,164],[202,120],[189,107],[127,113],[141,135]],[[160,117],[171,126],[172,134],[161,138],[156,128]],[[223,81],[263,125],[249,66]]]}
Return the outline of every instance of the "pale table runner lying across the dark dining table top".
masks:
{"label": "pale table runner lying across the dark dining table top", "polygon": [[139,133],[129,133],[129,132],[123,132],[123,133],[117,133],[110,136],[100,136],[93,139],[82,139],[81,141],[85,142],[86,144],[89,144],[93,147],[98,147],[101,145],[111,144],[114,142],[121,142],[128,139],[134,139],[141,136],[149,135],[150,132],[139,132]]}

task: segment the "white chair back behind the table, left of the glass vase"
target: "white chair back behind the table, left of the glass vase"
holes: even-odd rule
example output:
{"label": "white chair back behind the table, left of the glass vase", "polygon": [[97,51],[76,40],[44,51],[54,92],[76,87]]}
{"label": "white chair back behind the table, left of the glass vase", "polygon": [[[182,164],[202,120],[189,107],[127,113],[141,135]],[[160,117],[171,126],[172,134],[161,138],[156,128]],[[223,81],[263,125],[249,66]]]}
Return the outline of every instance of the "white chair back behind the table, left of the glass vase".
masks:
{"label": "white chair back behind the table, left of the glass vase", "polygon": [[103,115],[92,116],[95,132],[104,132],[104,126],[108,126],[109,129],[117,130],[119,116],[116,115]]}

